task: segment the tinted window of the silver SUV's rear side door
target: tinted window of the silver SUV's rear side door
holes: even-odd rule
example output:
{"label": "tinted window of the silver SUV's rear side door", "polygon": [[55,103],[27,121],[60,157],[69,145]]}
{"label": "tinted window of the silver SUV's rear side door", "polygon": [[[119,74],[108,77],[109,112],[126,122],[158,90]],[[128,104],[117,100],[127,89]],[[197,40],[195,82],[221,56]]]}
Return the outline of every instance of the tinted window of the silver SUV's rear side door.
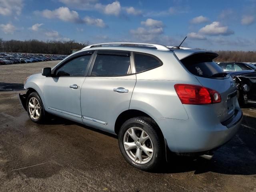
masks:
{"label": "tinted window of the silver SUV's rear side door", "polygon": [[97,55],[92,76],[124,76],[130,72],[130,57],[124,55]]}

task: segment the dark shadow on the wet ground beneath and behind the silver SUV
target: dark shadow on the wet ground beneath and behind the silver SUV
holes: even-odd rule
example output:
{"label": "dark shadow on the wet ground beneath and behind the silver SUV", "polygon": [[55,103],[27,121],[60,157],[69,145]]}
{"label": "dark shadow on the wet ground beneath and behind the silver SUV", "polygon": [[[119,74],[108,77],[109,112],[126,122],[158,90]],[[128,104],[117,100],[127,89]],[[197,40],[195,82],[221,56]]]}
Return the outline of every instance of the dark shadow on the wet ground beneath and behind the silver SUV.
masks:
{"label": "dark shadow on the wet ground beneath and behind the silver SUV", "polygon": [[[245,116],[243,123],[256,122],[256,118]],[[46,124],[62,124],[78,125],[95,132],[99,132],[113,138],[116,135],[109,134],[102,130],[97,130],[89,126],[78,124],[70,120],[52,116]],[[194,172],[194,174],[202,174],[205,172],[216,172],[221,174],[240,174],[252,175],[256,174],[256,128],[248,130],[241,126],[239,132],[226,143],[224,146],[214,152],[214,157],[211,160],[203,159],[202,157],[185,157],[171,155],[168,163],[163,164],[153,173],[182,173]]]}

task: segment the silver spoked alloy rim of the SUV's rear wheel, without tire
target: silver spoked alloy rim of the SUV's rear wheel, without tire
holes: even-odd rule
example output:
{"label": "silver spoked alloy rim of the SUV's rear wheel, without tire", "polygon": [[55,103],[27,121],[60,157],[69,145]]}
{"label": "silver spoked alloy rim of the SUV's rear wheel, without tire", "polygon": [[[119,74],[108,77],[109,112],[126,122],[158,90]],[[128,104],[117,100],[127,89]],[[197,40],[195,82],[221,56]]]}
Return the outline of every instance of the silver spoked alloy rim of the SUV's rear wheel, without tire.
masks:
{"label": "silver spoked alloy rim of the SUV's rear wheel, without tire", "polygon": [[153,142],[142,128],[131,127],[126,130],[123,144],[126,154],[135,163],[145,164],[153,157]]}

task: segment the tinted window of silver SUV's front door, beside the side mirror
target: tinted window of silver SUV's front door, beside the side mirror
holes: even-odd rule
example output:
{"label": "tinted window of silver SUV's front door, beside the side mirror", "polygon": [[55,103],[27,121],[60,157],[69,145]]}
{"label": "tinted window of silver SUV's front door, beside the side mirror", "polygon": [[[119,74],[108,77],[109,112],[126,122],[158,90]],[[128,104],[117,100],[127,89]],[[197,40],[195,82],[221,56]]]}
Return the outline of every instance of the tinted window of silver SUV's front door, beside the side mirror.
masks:
{"label": "tinted window of silver SUV's front door, beside the side mirror", "polygon": [[57,76],[86,76],[86,68],[88,66],[91,55],[84,55],[74,58],[64,64],[56,71]]}

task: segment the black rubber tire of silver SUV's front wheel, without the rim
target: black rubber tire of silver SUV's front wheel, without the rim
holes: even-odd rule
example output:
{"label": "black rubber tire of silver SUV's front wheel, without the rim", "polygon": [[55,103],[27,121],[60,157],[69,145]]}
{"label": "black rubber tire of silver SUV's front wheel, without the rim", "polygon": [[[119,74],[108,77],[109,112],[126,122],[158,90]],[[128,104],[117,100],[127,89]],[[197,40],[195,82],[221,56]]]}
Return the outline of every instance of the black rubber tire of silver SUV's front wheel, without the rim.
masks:
{"label": "black rubber tire of silver SUV's front wheel, without the rim", "polygon": [[[30,115],[30,112],[29,112],[29,107],[28,106],[29,106],[29,101],[32,97],[36,98],[36,100],[38,101],[38,103],[40,105],[40,108],[39,108],[40,109],[40,116],[37,119],[32,118],[32,116]],[[27,107],[28,116],[33,122],[35,122],[35,123],[44,122],[44,120],[46,119],[46,112],[44,110],[44,105],[42,103],[42,100],[41,100],[41,98],[40,98],[40,96],[38,95],[37,92],[32,92],[28,95],[27,102],[26,102],[26,107]]]}

